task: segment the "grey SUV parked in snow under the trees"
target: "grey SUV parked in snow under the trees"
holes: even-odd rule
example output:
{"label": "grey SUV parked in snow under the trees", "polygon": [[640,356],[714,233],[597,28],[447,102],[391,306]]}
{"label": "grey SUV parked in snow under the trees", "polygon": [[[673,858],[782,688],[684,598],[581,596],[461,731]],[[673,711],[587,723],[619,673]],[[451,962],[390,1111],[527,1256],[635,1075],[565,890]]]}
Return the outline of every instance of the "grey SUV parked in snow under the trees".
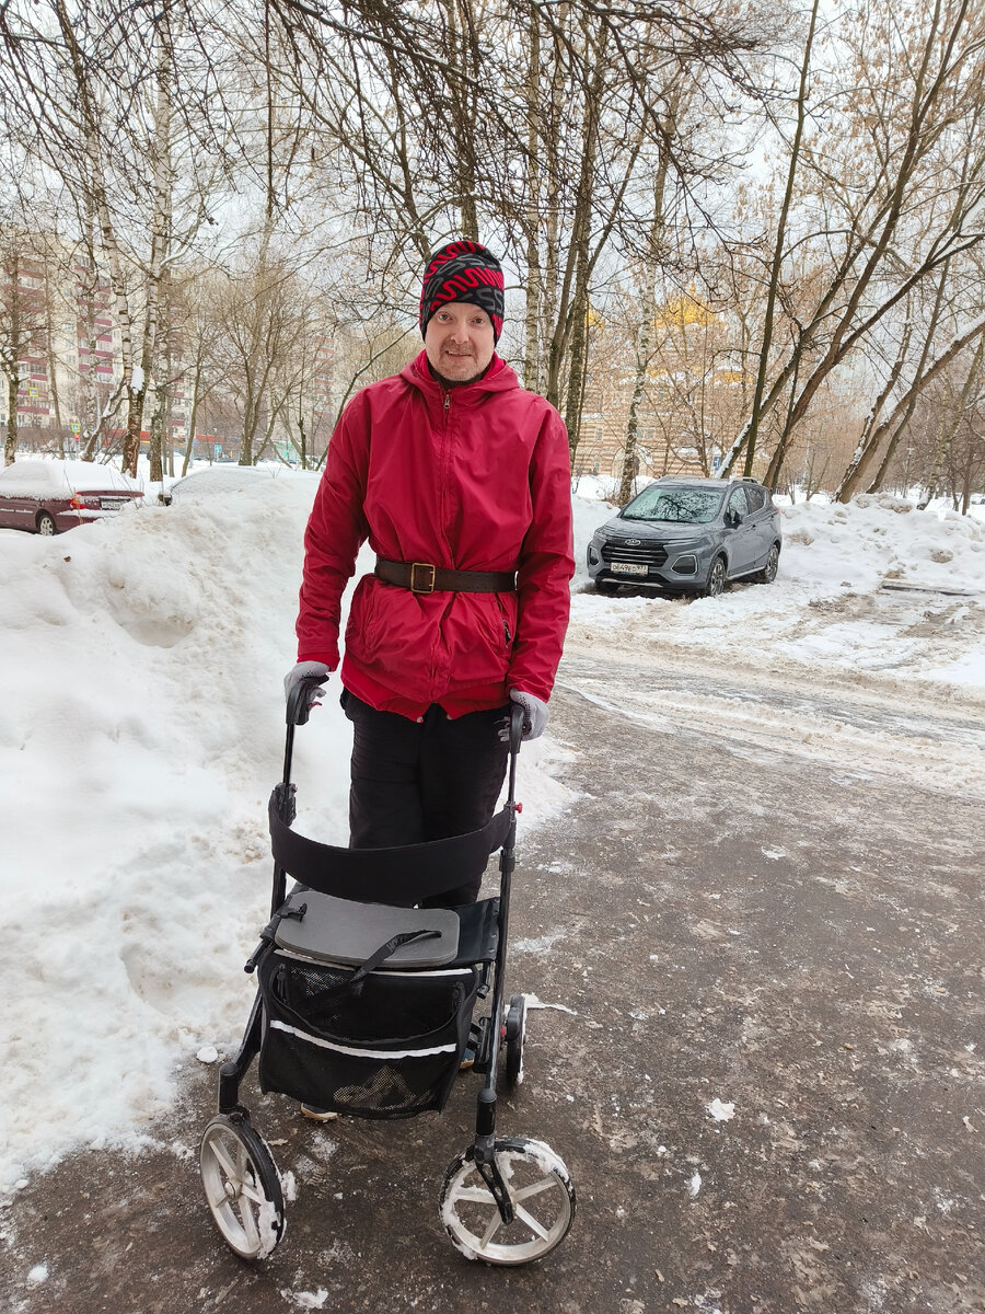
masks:
{"label": "grey SUV parked in snow under the trees", "polygon": [[654,480],[588,544],[600,593],[621,583],[717,597],[730,579],[772,583],[780,512],[755,480]]}

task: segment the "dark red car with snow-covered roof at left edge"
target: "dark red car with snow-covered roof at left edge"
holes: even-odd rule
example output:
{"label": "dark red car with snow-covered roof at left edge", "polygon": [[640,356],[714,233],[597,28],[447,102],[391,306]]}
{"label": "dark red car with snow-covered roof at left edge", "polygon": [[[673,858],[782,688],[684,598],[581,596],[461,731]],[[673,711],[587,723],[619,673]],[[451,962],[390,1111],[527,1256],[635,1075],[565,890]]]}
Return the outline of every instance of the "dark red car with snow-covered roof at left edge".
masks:
{"label": "dark red car with snow-covered roof at left edge", "polygon": [[0,470],[0,527],[60,533],[142,497],[143,489],[112,465],[17,460]]}

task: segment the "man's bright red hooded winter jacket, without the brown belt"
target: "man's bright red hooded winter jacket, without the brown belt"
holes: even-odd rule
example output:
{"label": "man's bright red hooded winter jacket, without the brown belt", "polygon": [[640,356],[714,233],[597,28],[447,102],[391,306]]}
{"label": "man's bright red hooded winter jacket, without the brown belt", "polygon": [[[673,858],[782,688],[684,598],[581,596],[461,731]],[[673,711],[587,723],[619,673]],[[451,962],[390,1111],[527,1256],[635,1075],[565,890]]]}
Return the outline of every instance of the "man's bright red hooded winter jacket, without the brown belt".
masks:
{"label": "man's bright red hooded winter jacket, without the brown belt", "polygon": [[341,682],[378,711],[462,716],[520,689],[546,702],[574,573],[567,436],[494,356],[445,392],[424,352],[343,411],[305,532],[298,661],[339,664],[343,590],[362,543],[391,561],[517,570],[516,593],[432,593],[364,576]]}

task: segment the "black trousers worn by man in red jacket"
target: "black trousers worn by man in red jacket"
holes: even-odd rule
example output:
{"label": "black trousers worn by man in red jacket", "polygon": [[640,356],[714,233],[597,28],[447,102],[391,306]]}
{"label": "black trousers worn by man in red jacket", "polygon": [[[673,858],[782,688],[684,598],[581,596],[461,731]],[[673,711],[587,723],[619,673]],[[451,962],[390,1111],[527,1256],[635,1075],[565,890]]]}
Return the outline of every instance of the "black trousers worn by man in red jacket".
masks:
{"label": "black trousers worn by man in red jacket", "polygon": [[[352,721],[349,848],[387,849],[478,830],[491,819],[506,777],[508,744],[499,738],[508,707],[449,720],[432,704],[420,721],[377,712],[348,690]],[[474,903],[482,871],[423,900],[424,907]],[[408,903],[416,903],[408,891]]]}

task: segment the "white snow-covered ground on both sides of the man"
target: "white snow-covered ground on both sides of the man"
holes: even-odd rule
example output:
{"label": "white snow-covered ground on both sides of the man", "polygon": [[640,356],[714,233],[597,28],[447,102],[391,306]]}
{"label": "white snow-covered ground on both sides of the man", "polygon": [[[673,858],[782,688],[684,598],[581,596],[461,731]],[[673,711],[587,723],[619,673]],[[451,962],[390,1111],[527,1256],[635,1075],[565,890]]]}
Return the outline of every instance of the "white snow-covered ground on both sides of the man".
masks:
{"label": "white snow-covered ground on both sides of the man", "polygon": [[[238,1041],[314,486],[282,473],[55,539],[0,531],[0,1189],[76,1144],[148,1141],[180,1064]],[[582,495],[575,511],[569,646],[603,682],[615,646],[676,654],[709,687],[770,671],[793,691],[884,690],[901,715],[985,703],[981,520],[893,498],[785,507],[776,583],[690,603],[587,591],[584,543],[612,511]],[[985,790],[980,748],[951,753]],[[298,827],[328,842],[347,759],[330,698],[294,773]],[[549,738],[524,750],[527,825],[567,798],[562,766]]]}

